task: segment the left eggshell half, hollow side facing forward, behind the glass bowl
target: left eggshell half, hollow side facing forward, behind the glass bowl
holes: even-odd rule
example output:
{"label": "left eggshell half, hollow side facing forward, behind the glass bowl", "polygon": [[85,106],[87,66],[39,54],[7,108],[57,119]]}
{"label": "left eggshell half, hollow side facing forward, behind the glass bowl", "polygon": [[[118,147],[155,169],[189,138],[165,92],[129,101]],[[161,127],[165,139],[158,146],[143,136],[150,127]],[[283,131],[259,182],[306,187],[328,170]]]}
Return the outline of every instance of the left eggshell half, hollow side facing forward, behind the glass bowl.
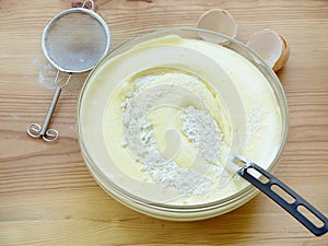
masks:
{"label": "left eggshell half, hollow side facing forward, behind the glass bowl", "polygon": [[[237,24],[235,20],[226,10],[222,9],[213,9],[204,12],[199,17],[197,27],[221,33],[232,38],[235,38],[237,35]],[[211,35],[210,37],[209,35],[201,34],[200,36],[204,40],[209,40],[212,43],[221,44],[226,42],[226,39],[220,37],[213,39],[213,35]]]}

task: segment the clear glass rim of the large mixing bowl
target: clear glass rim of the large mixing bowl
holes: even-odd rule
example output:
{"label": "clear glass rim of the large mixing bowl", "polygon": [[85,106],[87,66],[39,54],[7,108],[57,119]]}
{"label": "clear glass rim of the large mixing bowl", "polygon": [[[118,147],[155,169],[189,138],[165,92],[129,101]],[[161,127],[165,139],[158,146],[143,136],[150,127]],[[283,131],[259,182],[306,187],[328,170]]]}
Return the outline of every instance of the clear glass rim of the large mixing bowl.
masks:
{"label": "clear glass rim of the large mixing bowl", "polygon": [[[206,203],[200,203],[200,204],[184,204],[184,206],[179,206],[179,204],[166,204],[166,203],[161,203],[161,202],[153,202],[140,197],[134,196],[133,194],[122,190],[120,187],[118,187],[117,185],[115,185],[114,183],[112,183],[97,167],[97,165],[93,162],[92,157],[89,155],[86,147],[84,145],[84,140],[83,140],[83,134],[81,131],[81,120],[80,120],[80,113],[81,113],[81,101],[83,98],[83,94],[84,91],[86,89],[86,85],[90,81],[90,79],[92,78],[92,75],[97,71],[97,69],[99,69],[106,61],[107,59],[110,59],[113,57],[116,56],[116,52],[119,51],[122,47],[128,46],[129,44],[133,43],[133,42],[138,42],[142,38],[147,38],[147,37],[151,37],[157,34],[163,34],[163,36],[169,35],[169,33],[173,32],[195,32],[195,33],[203,33],[203,34],[210,34],[210,35],[215,35],[219,37],[223,37],[226,39],[226,42],[231,42],[233,44],[235,44],[236,46],[241,47],[242,49],[246,50],[247,54],[249,54],[251,57],[255,57],[256,59],[258,59],[260,61],[260,65],[267,70],[267,72],[272,77],[272,81],[274,81],[276,85],[277,85],[277,90],[273,90],[274,94],[280,93],[281,95],[281,99],[282,102],[280,105],[280,110],[281,110],[281,115],[283,115],[282,117],[282,124],[284,126],[282,126],[282,130],[283,130],[283,136],[281,139],[281,145],[279,147],[279,150],[273,159],[273,161],[271,162],[271,164],[268,166],[267,171],[271,172],[272,168],[274,166],[277,166],[278,164],[278,160],[281,156],[285,142],[286,142],[286,138],[288,138],[288,131],[289,131],[289,109],[288,109],[288,101],[286,101],[286,96],[285,93],[283,91],[283,87],[280,83],[280,80],[278,79],[277,74],[273,72],[273,70],[271,68],[269,68],[269,66],[266,63],[266,61],[263,61],[263,59],[257,55],[253,49],[250,49],[249,47],[247,47],[245,44],[243,44],[242,42],[232,38],[230,36],[226,36],[224,34],[218,33],[218,32],[213,32],[213,31],[209,31],[209,30],[202,30],[202,28],[197,28],[197,27],[187,27],[187,26],[180,26],[180,27],[165,27],[165,28],[159,28],[155,31],[151,31],[151,32],[147,32],[147,33],[142,33],[139,35],[136,35],[131,38],[128,38],[127,40],[122,42],[121,44],[119,44],[117,47],[115,47],[109,54],[107,54],[101,61],[99,63],[97,63],[92,71],[89,73],[87,78],[85,79],[85,82],[83,83],[81,93],[79,95],[79,101],[78,101],[78,109],[77,109],[77,131],[78,131],[78,140],[79,140],[79,144],[80,144],[80,149],[82,152],[82,156],[83,160],[90,171],[90,173],[92,174],[92,176],[94,177],[94,179],[98,183],[98,185],[105,189],[105,191],[109,192],[110,195],[113,195],[114,197],[117,197],[117,194],[119,194],[119,196],[121,196],[125,200],[129,200],[132,201],[139,206],[143,206],[143,207],[148,207],[149,209],[155,209],[155,210],[160,210],[160,211],[166,211],[166,212],[195,212],[195,210],[201,210],[201,211],[207,211],[207,210],[211,210],[213,208],[220,208],[223,207],[225,204],[232,203],[237,199],[242,199],[244,198],[247,194],[249,194],[251,190],[256,189],[255,186],[251,186],[250,184],[248,184],[246,187],[244,187],[243,189],[241,189],[239,191],[223,198],[223,199],[219,199],[215,201],[211,201],[211,202],[206,202]],[[235,51],[235,50],[234,50]],[[241,54],[239,54],[241,55]],[[243,55],[241,55],[243,56]],[[244,57],[244,56],[243,56]],[[246,58],[247,59],[247,58]],[[248,60],[248,59],[247,59]],[[270,83],[271,84],[271,83]],[[272,87],[272,86],[271,86]],[[277,95],[276,95],[277,97]],[[281,108],[281,106],[283,106],[284,108]],[[284,119],[283,119],[284,118]],[[96,173],[96,175],[95,175]],[[103,181],[106,183],[106,186],[103,184]],[[110,187],[110,189],[108,189],[108,187]],[[115,191],[116,194],[114,194],[113,191]],[[121,199],[118,198],[118,199]]]}

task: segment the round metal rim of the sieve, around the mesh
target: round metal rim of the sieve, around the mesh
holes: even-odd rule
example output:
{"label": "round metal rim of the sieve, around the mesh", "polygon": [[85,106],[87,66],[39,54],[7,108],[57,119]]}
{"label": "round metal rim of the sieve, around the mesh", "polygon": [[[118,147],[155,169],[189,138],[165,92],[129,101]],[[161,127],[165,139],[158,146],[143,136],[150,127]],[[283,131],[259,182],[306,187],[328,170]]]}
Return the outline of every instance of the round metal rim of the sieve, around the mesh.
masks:
{"label": "round metal rim of the sieve, around the mesh", "polygon": [[57,15],[55,15],[46,25],[46,27],[44,28],[44,32],[43,32],[43,36],[42,36],[42,47],[43,47],[43,51],[44,51],[44,55],[46,56],[46,58],[48,59],[48,61],[56,68],[58,69],[59,71],[61,72],[68,72],[68,73],[82,73],[82,72],[86,72],[91,69],[93,69],[98,62],[96,62],[95,65],[86,68],[86,69],[79,69],[79,70],[74,70],[74,69],[65,69],[62,68],[61,66],[57,65],[52,59],[51,57],[49,56],[48,54],[48,49],[46,47],[46,38],[48,36],[48,33],[50,31],[50,28],[54,26],[54,24],[56,24],[56,22],[61,19],[62,16],[65,15],[68,15],[68,14],[71,14],[71,13],[85,13],[85,14],[89,14],[90,16],[92,16],[93,19],[95,19],[103,27],[104,32],[105,32],[105,35],[106,35],[106,47],[105,47],[105,50],[102,55],[102,57],[99,58],[98,62],[101,60],[103,60],[106,55],[108,54],[109,51],[109,46],[110,46],[110,31],[109,31],[109,27],[107,25],[107,23],[104,21],[103,17],[101,17],[101,15],[98,15],[96,12],[94,12],[93,10],[89,10],[89,9],[85,9],[85,8],[71,8],[71,9],[67,9],[60,13],[58,13]]}

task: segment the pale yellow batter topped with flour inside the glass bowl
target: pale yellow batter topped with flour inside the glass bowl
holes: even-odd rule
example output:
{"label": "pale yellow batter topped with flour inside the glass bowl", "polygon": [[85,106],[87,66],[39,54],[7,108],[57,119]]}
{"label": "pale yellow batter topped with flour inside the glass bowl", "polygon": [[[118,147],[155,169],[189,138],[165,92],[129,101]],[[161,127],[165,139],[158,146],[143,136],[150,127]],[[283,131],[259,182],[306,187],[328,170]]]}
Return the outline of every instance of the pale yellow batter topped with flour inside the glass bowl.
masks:
{"label": "pale yellow batter topped with flour inside the glass bowl", "polygon": [[103,137],[86,132],[85,145],[113,183],[147,200],[229,197],[247,184],[230,171],[230,154],[266,168],[280,147],[279,105],[266,78],[219,45],[177,36],[143,43],[106,61],[85,90],[85,126],[102,116]]}

